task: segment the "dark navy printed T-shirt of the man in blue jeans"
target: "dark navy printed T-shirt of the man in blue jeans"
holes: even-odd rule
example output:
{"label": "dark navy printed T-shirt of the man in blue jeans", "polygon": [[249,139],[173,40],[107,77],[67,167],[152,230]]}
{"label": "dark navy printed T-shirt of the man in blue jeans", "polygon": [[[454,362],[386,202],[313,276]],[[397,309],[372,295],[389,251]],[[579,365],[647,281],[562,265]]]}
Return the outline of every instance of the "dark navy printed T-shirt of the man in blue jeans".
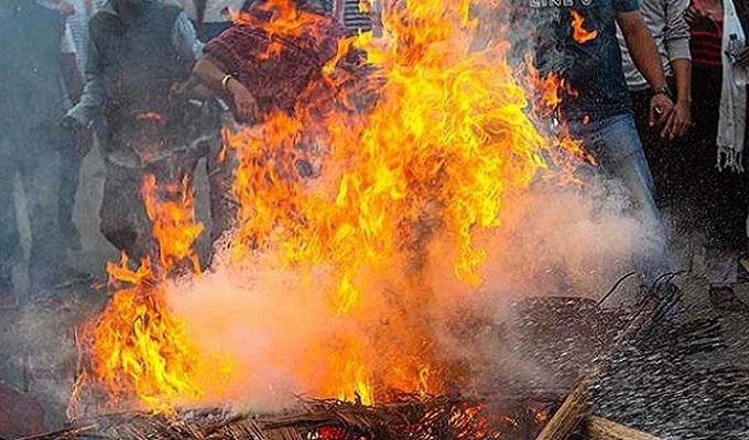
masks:
{"label": "dark navy printed T-shirt of the man in blue jeans", "polygon": [[[538,23],[535,62],[573,90],[563,96],[568,120],[610,118],[631,111],[617,41],[616,13],[636,11],[638,0],[524,0]],[[575,38],[573,18],[587,38]],[[582,19],[582,23],[579,20]]]}

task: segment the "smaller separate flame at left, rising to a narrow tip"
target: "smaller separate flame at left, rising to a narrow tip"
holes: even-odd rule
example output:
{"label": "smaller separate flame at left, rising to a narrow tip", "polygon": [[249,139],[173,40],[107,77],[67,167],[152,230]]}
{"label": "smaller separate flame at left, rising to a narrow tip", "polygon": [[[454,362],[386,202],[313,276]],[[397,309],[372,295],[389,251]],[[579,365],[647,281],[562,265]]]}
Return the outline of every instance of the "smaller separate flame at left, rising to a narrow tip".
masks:
{"label": "smaller separate flame at left, rising to a narrow tip", "polygon": [[[112,403],[135,397],[153,410],[167,411],[175,400],[202,395],[194,377],[204,360],[185,336],[184,322],[166,307],[165,279],[185,263],[199,272],[191,248],[203,226],[195,219],[186,179],[158,186],[149,175],[142,196],[154,223],[158,265],[146,257],[133,270],[127,255],[119,265],[108,265],[109,284],[117,290],[84,330],[89,366],[82,380],[104,384]],[[80,385],[86,384],[76,384],[76,393]]]}

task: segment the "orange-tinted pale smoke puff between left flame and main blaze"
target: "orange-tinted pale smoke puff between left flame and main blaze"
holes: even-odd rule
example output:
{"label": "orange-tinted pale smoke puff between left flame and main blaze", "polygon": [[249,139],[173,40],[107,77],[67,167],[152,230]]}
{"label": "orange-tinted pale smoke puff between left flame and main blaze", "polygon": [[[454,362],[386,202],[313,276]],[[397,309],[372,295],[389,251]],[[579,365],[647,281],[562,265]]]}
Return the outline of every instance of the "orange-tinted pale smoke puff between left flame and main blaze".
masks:
{"label": "orange-tinted pale smoke puff between left flame and main blaze", "polygon": [[[217,377],[208,381],[213,389],[208,387],[205,400],[263,411],[318,392],[314,385],[327,372],[322,358],[350,323],[327,307],[322,294],[330,286],[324,286],[324,274],[253,263],[221,266],[187,289],[174,285],[170,305],[208,354],[204,358],[217,354],[209,365]],[[231,369],[224,375],[222,364]]]}

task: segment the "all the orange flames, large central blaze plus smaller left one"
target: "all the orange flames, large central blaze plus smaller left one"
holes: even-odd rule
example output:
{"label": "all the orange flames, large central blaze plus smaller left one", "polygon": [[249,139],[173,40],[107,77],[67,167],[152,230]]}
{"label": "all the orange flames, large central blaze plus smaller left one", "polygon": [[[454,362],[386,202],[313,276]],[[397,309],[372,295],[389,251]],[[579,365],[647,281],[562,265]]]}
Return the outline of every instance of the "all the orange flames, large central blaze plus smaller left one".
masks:
{"label": "all the orange flames, large central blaze plus smaller left one", "polygon": [[[471,47],[477,22],[469,6],[386,7],[383,38],[340,41],[293,116],[274,112],[222,133],[238,164],[239,200],[226,264],[240,272],[270,265],[308,279],[322,273],[305,299],[346,323],[333,340],[308,348],[311,362],[284,365],[315,397],[371,404],[398,393],[441,395],[460,384],[466,372],[435,345],[434,275],[475,289],[488,255],[479,238],[501,226],[503,196],[546,169],[545,156],[576,153],[573,144],[552,152],[554,143],[529,119],[523,87],[506,62],[509,45]],[[289,0],[263,8],[273,13],[270,23],[235,14],[276,41],[259,62],[282,55],[290,38],[314,42],[323,23]],[[367,53],[373,74],[341,68],[348,47]],[[171,272],[184,274],[186,265],[199,276],[191,248],[203,227],[193,195],[186,180],[156,185],[150,177],[143,196],[159,252],[137,271],[127,262],[110,265],[112,280],[130,286],[88,329],[87,352],[89,376],[111,396],[134,396],[161,410],[221,392],[207,378],[206,353],[165,301]]]}

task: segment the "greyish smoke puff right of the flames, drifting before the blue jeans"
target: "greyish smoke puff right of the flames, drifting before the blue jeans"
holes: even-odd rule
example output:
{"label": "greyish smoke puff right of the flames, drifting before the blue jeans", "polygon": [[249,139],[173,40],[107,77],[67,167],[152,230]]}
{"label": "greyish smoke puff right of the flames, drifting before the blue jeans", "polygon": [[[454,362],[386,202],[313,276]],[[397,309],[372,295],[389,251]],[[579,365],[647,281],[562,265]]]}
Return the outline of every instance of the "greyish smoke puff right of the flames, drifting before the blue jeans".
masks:
{"label": "greyish smoke puff right of the flames, drifting before the blue jeans", "polygon": [[[451,286],[449,268],[437,264],[432,271],[438,296],[431,310],[436,338],[441,350],[469,365],[467,392],[486,393],[509,377],[560,386],[549,364],[518,351],[513,306],[532,297],[600,299],[632,271],[632,256],[647,234],[630,216],[626,190],[603,177],[589,177],[579,187],[535,185],[504,205],[504,222],[482,239],[489,256],[476,290],[464,286],[456,296],[456,290],[437,287]],[[639,288],[632,279],[614,301],[632,299]],[[457,287],[454,282],[452,287]]]}

